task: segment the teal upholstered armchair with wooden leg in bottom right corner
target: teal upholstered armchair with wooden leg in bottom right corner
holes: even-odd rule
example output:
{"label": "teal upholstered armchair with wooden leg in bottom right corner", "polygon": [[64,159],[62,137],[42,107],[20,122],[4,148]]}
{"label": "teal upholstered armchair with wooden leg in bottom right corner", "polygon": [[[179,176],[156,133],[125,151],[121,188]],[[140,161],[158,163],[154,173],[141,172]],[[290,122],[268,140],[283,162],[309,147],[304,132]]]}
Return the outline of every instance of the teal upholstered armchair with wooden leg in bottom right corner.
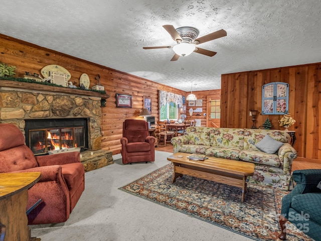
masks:
{"label": "teal upholstered armchair with wooden leg in bottom right corner", "polygon": [[306,235],[321,241],[321,169],[296,170],[292,177],[296,185],[282,198],[279,238],[286,238],[284,223],[290,221]]}

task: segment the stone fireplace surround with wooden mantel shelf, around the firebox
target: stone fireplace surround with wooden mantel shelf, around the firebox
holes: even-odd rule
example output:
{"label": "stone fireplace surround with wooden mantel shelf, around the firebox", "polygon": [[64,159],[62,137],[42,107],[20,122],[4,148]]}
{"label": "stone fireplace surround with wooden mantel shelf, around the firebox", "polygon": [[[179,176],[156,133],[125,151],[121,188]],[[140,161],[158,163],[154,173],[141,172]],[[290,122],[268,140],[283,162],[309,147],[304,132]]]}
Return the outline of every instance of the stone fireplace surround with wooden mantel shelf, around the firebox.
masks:
{"label": "stone fireplace surround with wooden mantel shelf, around the firebox", "polygon": [[25,119],[89,118],[89,149],[99,150],[100,100],[108,97],[89,90],[0,80],[0,123],[13,123],[25,133]]}

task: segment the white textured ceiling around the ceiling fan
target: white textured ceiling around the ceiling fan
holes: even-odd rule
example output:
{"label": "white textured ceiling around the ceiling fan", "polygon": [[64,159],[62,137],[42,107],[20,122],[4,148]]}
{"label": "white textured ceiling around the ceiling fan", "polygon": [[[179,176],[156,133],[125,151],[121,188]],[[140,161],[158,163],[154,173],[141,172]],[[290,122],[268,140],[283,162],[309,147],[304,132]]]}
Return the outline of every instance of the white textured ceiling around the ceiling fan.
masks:
{"label": "white textured ceiling around the ceiling fan", "polygon": [[[190,91],[221,88],[221,74],[321,62],[321,0],[2,1],[0,33]],[[162,27],[227,36],[170,61]],[[1,61],[1,59],[0,59]],[[196,84],[196,85],[194,85]]]}

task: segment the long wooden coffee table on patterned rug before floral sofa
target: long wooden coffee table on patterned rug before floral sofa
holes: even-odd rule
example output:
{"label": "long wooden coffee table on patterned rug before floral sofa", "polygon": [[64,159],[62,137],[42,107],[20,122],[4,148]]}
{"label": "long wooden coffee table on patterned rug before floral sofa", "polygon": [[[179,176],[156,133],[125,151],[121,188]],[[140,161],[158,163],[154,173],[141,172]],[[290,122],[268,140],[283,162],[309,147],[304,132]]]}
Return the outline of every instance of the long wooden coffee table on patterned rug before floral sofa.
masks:
{"label": "long wooden coffee table on patterned rug before floral sofa", "polygon": [[190,153],[175,153],[167,158],[174,165],[173,180],[184,175],[224,183],[242,188],[242,202],[246,191],[246,177],[254,173],[254,164],[249,162],[208,157],[204,161],[189,160]]}

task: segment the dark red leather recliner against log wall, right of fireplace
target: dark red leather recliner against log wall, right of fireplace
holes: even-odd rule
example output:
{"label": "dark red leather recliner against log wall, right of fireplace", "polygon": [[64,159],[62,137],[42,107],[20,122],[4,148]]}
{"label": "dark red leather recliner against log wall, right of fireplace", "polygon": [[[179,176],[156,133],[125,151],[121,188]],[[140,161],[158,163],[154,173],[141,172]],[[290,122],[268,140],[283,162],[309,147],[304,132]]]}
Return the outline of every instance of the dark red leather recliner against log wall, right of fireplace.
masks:
{"label": "dark red leather recliner against log wall, right of fireplace", "polygon": [[122,125],[120,142],[123,164],[155,161],[155,138],[149,136],[147,122],[126,119]]}

